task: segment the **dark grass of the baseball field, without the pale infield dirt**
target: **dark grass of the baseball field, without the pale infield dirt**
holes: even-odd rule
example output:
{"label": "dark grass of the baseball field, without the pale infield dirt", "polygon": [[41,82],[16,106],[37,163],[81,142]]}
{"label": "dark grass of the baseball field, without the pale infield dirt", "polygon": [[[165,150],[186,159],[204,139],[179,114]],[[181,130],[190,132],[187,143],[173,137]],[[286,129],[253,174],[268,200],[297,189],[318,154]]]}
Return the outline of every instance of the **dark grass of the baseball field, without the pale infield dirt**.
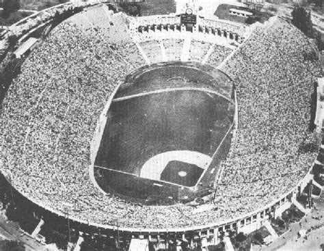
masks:
{"label": "dark grass of the baseball field, without the pale infield dirt", "polygon": [[[173,87],[193,84],[199,86],[200,83],[206,85],[206,81],[211,81],[216,88],[224,85],[217,81],[217,76],[211,77],[205,72],[195,72],[192,68],[177,65],[153,68],[137,76],[132,85],[127,83],[122,93],[137,93],[138,90],[148,90],[149,87],[154,90],[165,89],[170,84]],[[187,81],[183,81],[183,78]],[[213,86],[210,88],[213,89]],[[174,150],[190,150],[213,156],[232,124],[234,111],[229,109],[231,105],[221,96],[197,90],[162,92],[111,103],[95,166],[128,174],[124,175],[124,180],[118,172],[100,170],[101,174],[96,176],[98,184],[107,192],[112,188],[119,194],[136,198],[154,196],[161,199],[167,193],[176,198],[178,191],[175,190],[174,196],[174,190],[167,186],[163,189],[169,190],[163,191],[163,194],[152,194],[154,191],[150,191],[150,187],[137,178],[142,166],[152,157]],[[226,139],[230,144],[230,137]],[[228,150],[229,148],[224,148],[224,153],[217,156],[217,161],[225,159]],[[202,174],[200,168],[185,168],[179,161],[172,164],[162,172],[161,180],[191,186],[197,183]],[[213,167],[218,168],[218,164],[214,164]],[[95,173],[98,172],[96,169]],[[187,170],[187,176],[185,179],[176,179],[178,172],[182,170]],[[209,179],[215,181],[216,174],[217,170],[213,174],[208,170],[208,179],[202,180],[200,189],[208,187]],[[117,183],[111,181],[112,175],[118,179]]]}

